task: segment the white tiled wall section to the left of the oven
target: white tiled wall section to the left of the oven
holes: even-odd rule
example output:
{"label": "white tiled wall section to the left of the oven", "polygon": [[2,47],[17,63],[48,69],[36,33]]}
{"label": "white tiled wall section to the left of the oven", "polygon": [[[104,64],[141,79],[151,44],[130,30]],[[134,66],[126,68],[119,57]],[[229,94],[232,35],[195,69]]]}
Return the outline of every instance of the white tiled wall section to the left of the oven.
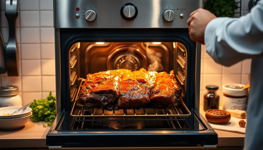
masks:
{"label": "white tiled wall section to the left of the oven", "polygon": [[[4,43],[8,41],[8,23],[1,0],[0,26]],[[19,0],[17,42],[21,73],[18,77],[1,75],[0,85],[17,85],[23,104],[55,95],[55,45],[53,0]]]}

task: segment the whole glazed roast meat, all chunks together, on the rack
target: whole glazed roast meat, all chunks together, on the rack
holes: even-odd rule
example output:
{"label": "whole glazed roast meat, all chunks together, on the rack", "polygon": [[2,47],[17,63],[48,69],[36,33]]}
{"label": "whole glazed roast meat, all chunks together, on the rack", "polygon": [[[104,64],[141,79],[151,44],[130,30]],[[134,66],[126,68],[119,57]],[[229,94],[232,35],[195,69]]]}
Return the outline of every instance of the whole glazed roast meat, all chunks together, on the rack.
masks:
{"label": "whole glazed roast meat, all chunks together, on the rack", "polygon": [[110,111],[141,108],[150,101],[155,108],[166,108],[172,106],[180,95],[181,88],[173,70],[168,74],[143,68],[133,72],[117,69],[88,74],[77,101],[84,108]]}

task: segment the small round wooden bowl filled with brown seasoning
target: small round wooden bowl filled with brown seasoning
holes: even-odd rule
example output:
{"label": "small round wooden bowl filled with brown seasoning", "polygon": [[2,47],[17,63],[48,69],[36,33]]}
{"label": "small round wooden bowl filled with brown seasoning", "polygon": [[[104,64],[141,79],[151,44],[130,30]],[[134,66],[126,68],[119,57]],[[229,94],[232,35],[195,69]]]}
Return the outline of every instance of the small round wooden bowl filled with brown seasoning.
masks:
{"label": "small round wooden bowl filled with brown seasoning", "polygon": [[205,112],[205,118],[210,123],[225,124],[231,119],[229,112],[219,109],[210,109]]}

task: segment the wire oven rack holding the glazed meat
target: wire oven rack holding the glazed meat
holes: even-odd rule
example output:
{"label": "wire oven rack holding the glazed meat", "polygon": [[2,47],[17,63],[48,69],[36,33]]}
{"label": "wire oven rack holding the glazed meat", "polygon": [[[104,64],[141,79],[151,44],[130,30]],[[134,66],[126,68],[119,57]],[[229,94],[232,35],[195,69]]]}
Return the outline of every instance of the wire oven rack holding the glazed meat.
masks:
{"label": "wire oven rack holding the glazed meat", "polygon": [[191,112],[184,104],[183,100],[176,100],[174,105],[169,108],[155,109],[153,106],[143,107],[140,109],[120,109],[113,111],[102,110],[98,108],[84,108],[76,101],[80,87],[85,79],[79,78],[80,85],[75,95],[74,104],[70,112],[72,117],[187,117]]}

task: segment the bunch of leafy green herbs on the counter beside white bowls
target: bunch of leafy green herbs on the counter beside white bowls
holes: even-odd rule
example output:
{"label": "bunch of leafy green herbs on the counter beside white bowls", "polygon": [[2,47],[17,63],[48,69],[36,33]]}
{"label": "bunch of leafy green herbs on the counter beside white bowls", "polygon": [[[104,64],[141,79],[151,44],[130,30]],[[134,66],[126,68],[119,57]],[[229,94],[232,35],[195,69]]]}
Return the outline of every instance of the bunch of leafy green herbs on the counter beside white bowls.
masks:
{"label": "bunch of leafy green herbs on the counter beside white bowls", "polygon": [[51,92],[47,99],[34,100],[29,107],[32,108],[33,114],[30,119],[33,122],[45,121],[47,126],[51,127],[56,118],[56,97],[53,97]]}

